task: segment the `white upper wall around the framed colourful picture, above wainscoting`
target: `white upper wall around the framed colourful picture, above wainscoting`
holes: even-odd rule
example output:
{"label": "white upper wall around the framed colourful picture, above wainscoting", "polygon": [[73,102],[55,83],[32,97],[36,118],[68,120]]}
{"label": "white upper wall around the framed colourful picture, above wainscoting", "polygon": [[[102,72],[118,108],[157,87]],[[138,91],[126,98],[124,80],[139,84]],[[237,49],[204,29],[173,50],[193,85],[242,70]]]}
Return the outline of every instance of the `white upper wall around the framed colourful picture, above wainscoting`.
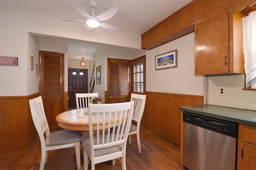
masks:
{"label": "white upper wall around the framed colourful picture, above wainscoting", "polygon": [[[178,50],[178,67],[155,70],[155,56]],[[146,52],[146,91],[204,95],[204,76],[194,74],[194,33]]]}

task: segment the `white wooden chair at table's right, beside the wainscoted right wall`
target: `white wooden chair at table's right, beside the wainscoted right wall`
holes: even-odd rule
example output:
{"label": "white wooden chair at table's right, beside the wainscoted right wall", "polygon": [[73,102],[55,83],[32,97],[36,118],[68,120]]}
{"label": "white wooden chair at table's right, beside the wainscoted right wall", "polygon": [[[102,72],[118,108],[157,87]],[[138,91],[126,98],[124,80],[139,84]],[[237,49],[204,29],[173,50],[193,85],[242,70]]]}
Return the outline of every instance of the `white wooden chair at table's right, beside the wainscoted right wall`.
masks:
{"label": "white wooden chair at table's right, beside the wainscoted right wall", "polygon": [[137,125],[132,124],[129,131],[129,144],[131,144],[131,136],[133,134],[137,134],[137,143],[139,153],[141,153],[140,147],[140,121],[144,112],[145,104],[146,104],[146,95],[142,94],[134,94],[131,95],[131,101],[134,101],[133,107],[133,115],[132,120],[137,122]]}

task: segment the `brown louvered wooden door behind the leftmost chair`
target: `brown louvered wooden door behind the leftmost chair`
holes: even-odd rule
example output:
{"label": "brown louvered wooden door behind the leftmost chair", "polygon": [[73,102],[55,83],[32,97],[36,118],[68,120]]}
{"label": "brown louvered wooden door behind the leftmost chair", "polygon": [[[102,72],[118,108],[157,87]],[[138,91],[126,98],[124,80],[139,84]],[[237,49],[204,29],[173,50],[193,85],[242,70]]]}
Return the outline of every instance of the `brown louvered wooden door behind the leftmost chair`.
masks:
{"label": "brown louvered wooden door behind the leftmost chair", "polygon": [[64,53],[39,51],[39,94],[50,130],[60,129],[56,116],[64,111]]}

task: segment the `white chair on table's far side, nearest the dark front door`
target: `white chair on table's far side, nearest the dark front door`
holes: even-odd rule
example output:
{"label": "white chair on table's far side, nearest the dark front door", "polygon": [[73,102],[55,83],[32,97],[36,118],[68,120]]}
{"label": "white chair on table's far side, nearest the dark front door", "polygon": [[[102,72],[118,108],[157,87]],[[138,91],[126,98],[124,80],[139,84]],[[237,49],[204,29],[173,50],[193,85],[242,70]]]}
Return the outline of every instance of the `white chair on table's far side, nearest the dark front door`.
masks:
{"label": "white chair on table's far side, nearest the dark front door", "polygon": [[91,98],[97,98],[97,93],[76,93],[76,108],[87,108]]}

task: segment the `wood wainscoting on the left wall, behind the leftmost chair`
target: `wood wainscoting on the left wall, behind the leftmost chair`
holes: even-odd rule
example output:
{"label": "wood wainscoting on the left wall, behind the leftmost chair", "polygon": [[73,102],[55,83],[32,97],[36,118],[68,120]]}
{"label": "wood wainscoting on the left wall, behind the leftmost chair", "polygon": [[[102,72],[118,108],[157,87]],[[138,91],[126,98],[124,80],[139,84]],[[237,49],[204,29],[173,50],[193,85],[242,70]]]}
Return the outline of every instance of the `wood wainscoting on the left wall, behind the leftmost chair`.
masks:
{"label": "wood wainscoting on the left wall, behind the leftmost chair", "polygon": [[29,151],[37,132],[28,100],[38,96],[0,97],[0,157]]}

